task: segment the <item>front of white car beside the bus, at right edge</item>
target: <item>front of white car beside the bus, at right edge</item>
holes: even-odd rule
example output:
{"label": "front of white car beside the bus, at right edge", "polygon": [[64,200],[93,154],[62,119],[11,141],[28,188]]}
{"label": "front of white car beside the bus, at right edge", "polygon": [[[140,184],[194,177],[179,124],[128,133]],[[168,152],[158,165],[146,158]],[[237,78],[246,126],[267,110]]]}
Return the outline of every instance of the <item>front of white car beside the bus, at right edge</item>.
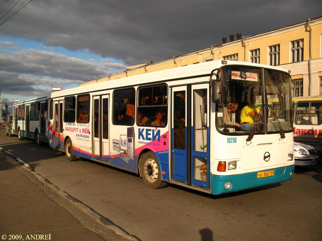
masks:
{"label": "front of white car beside the bus, at right edge", "polygon": [[294,160],[296,166],[317,164],[317,150],[309,145],[294,142]]}

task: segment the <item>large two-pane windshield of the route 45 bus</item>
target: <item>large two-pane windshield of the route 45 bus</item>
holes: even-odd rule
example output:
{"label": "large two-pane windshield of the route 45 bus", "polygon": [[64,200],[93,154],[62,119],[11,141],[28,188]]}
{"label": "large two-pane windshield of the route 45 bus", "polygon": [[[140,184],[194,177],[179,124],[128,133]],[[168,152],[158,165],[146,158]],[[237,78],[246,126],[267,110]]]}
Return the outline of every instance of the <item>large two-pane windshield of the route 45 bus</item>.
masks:
{"label": "large two-pane windshield of the route 45 bus", "polygon": [[222,102],[217,112],[221,132],[248,135],[292,130],[288,74],[265,69],[263,79],[262,68],[243,66],[224,67],[222,73]]}

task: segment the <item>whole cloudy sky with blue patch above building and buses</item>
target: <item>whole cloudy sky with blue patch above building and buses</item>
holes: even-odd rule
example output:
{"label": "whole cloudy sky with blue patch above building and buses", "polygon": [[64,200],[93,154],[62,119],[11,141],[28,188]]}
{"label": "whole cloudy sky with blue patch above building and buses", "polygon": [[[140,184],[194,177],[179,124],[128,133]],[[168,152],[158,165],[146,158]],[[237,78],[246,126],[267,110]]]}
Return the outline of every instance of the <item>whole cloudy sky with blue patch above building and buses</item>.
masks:
{"label": "whole cloudy sky with blue patch above building and buses", "polygon": [[[0,0],[0,24],[23,3]],[[14,99],[204,49],[230,34],[303,22],[321,9],[321,0],[33,0],[0,25],[1,99],[12,112]]]}

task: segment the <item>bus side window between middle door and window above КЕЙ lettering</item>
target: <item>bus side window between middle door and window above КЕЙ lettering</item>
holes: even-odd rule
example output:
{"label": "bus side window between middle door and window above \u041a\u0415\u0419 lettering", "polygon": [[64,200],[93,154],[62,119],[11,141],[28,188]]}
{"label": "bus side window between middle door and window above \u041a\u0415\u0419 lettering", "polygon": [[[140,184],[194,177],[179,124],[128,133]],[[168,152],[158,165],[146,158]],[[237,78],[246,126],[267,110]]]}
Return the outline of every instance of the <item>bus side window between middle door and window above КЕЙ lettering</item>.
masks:
{"label": "bus side window between middle door and window above \u041a\u0415\u0419 lettering", "polygon": [[135,89],[121,89],[113,92],[113,124],[128,125],[134,123]]}

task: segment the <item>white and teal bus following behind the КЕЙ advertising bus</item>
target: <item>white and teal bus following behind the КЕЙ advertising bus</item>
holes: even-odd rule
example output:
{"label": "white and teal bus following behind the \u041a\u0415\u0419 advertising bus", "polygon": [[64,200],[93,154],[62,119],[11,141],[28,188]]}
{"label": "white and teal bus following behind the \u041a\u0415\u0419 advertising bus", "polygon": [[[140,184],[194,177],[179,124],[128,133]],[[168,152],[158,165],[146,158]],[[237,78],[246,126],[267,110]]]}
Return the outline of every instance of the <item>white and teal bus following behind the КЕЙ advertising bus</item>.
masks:
{"label": "white and teal bus following behind the \u041a\u0415\u0419 advertising bus", "polygon": [[40,146],[47,142],[47,96],[18,101],[13,107],[13,133],[19,140],[29,138]]}

